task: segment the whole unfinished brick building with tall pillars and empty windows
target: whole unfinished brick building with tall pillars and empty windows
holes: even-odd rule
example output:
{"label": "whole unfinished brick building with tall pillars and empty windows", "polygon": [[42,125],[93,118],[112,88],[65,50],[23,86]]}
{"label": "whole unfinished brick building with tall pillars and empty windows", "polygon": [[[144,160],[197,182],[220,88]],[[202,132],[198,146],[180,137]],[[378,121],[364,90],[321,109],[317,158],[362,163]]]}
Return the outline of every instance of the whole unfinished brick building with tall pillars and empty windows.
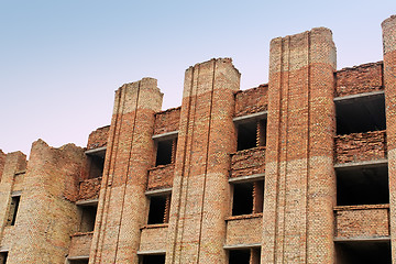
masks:
{"label": "whole unfinished brick building with tall pillars and empty windows", "polygon": [[86,148],[0,152],[1,263],[396,263],[396,16],[384,61],[336,69],[331,31],[271,42],[270,80],[229,58],[116,92]]}

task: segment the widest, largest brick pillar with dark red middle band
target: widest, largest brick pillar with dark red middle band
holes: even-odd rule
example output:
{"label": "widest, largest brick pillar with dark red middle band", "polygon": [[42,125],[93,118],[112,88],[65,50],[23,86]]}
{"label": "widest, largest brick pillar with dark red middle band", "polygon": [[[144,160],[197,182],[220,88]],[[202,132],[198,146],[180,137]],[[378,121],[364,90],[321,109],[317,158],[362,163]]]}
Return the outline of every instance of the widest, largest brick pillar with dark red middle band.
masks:
{"label": "widest, largest brick pillar with dark red middle band", "polygon": [[270,54],[262,263],[333,263],[331,31],[274,38]]}

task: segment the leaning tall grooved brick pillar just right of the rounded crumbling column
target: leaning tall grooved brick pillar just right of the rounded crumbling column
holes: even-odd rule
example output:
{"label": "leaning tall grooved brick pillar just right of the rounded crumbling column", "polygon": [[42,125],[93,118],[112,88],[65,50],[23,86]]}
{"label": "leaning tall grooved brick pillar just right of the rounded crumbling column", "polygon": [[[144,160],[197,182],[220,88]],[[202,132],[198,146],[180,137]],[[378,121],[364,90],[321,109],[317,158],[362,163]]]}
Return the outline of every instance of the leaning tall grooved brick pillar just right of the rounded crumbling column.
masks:
{"label": "leaning tall grooved brick pillar just right of the rounded crumbling column", "polygon": [[153,78],[116,91],[89,263],[138,264],[147,169],[153,165],[154,113],[162,99]]}

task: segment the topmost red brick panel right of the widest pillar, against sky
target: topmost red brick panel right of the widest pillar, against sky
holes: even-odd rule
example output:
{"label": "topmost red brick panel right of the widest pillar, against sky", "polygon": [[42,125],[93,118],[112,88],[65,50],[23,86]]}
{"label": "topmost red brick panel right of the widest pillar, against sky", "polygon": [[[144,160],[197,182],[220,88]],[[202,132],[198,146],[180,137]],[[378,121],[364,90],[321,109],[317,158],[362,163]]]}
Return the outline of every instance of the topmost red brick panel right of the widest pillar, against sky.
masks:
{"label": "topmost red brick panel right of the widest pillar, against sky", "polygon": [[336,97],[383,90],[383,63],[370,63],[336,72]]}

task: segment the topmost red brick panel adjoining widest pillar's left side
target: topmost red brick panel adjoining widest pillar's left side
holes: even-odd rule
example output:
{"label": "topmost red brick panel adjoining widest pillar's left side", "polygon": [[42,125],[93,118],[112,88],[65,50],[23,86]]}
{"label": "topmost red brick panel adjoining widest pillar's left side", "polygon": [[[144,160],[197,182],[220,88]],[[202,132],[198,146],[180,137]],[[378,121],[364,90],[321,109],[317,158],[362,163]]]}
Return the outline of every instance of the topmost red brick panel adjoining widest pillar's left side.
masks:
{"label": "topmost red brick panel adjoining widest pillar's left side", "polygon": [[235,117],[267,110],[268,85],[261,85],[235,94]]}

